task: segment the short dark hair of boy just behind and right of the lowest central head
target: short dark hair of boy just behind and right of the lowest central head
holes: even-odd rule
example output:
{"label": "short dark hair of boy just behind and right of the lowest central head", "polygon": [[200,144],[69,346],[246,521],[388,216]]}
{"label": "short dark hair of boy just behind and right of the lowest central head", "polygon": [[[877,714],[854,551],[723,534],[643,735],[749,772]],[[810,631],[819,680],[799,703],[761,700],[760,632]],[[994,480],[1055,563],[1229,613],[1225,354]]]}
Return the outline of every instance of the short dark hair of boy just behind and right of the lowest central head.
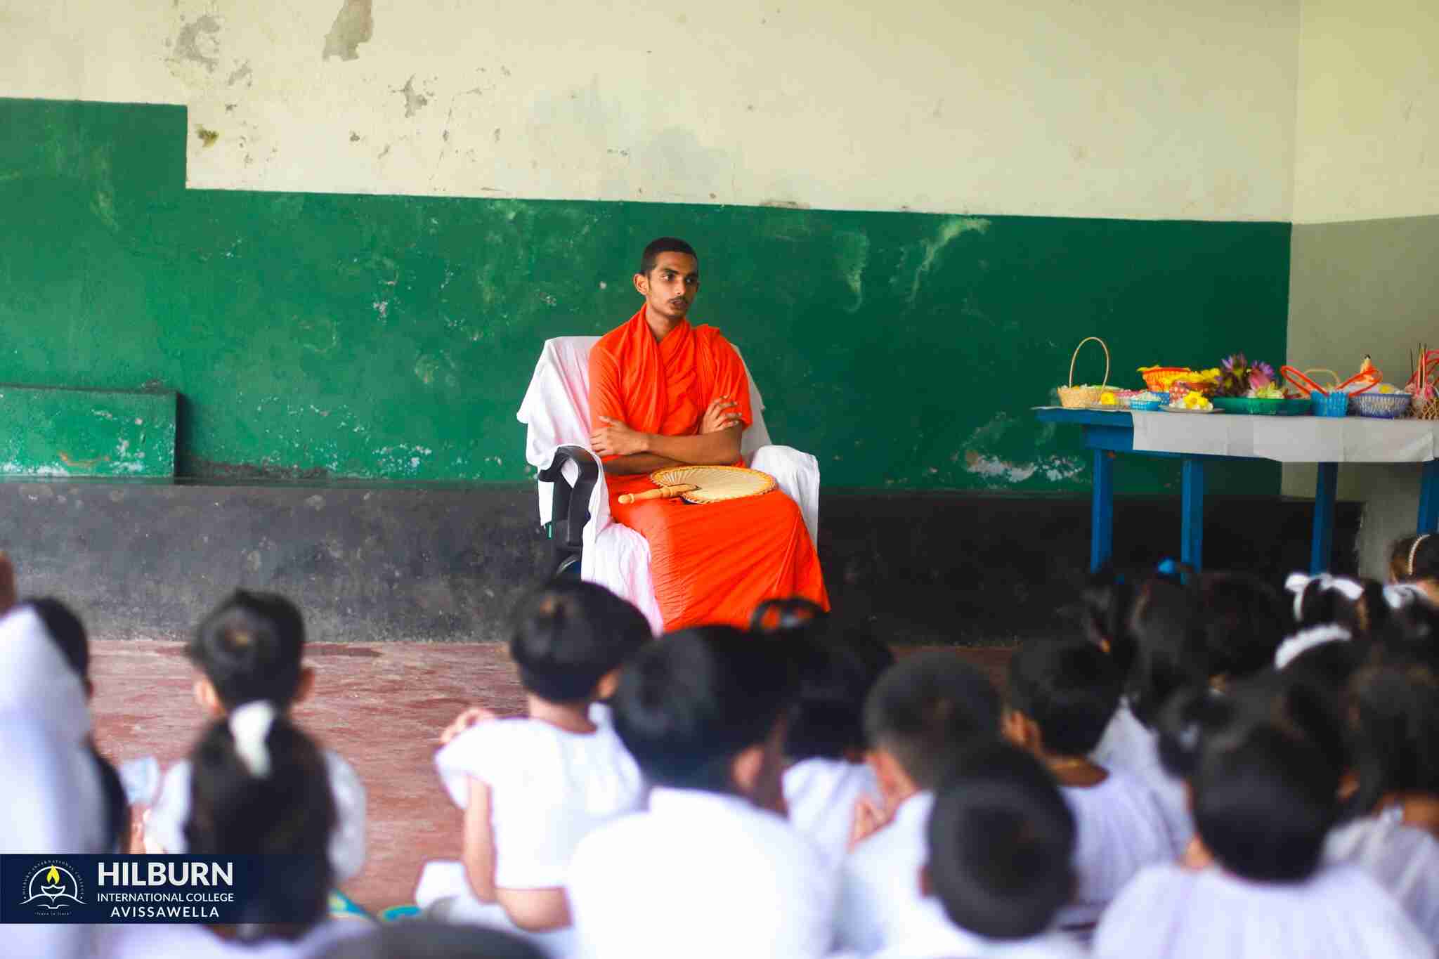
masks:
{"label": "short dark hair of boy just behind and right of the lowest central head", "polygon": [[1009,660],[1006,705],[1039,726],[1043,748],[1088,755],[1120,706],[1124,682],[1108,656],[1085,641],[1035,641]]}

